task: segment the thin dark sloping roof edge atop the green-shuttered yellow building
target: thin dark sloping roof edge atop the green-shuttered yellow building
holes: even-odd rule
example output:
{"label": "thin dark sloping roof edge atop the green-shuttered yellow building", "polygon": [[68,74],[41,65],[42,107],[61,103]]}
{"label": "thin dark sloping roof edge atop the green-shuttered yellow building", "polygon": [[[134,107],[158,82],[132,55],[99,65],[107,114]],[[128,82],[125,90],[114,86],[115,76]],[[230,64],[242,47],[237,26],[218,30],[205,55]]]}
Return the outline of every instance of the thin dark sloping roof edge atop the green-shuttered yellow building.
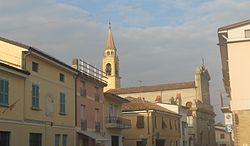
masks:
{"label": "thin dark sloping roof edge atop the green-shuttered yellow building", "polygon": [[54,62],[56,62],[56,63],[58,63],[58,64],[60,64],[60,65],[62,65],[64,67],[74,71],[74,72],[77,72],[76,69],[74,69],[71,66],[67,65],[66,63],[64,63],[64,62],[50,56],[49,54],[47,54],[47,53],[45,53],[45,52],[43,52],[41,50],[38,50],[37,48],[34,48],[32,46],[29,46],[29,45],[25,45],[23,43],[19,43],[19,42],[13,41],[13,40],[9,40],[9,39],[3,38],[3,37],[0,37],[0,41],[9,43],[9,44],[12,44],[12,45],[15,45],[15,46],[19,46],[21,48],[25,48],[25,49],[30,50],[32,52],[38,53],[38,54],[40,54],[41,56],[43,56],[45,58],[48,58],[48,59],[50,59],[50,60],[52,60],[52,61],[54,61]]}

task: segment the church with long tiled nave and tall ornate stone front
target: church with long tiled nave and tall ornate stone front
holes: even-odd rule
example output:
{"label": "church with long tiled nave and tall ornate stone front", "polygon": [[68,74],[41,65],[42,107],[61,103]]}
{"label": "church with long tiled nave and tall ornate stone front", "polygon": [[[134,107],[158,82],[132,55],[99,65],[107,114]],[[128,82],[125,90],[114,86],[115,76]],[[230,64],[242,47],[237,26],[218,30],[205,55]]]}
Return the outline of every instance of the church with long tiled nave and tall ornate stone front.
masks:
{"label": "church with long tiled nave and tall ornate stone front", "polygon": [[107,92],[121,97],[144,97],[150,102],[170,103],[188,107],[188,145],[214,146],[215,113],[210,104],[210,76],[204,66],[195,70],[192,82],[159,84],[129,88],[110,89]]}

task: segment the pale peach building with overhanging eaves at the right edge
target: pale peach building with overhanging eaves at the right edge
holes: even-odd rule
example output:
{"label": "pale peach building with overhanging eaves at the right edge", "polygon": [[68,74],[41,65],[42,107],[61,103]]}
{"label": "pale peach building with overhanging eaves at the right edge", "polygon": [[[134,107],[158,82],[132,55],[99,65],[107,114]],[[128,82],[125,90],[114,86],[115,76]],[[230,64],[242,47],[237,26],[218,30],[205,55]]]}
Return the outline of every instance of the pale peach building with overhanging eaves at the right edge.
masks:
{"label": "pale peach building with overhanging eaves at the right edge", "polygon": [[250,20],[218,29],[224,87],[230,98],[236,146],[250,145]]}

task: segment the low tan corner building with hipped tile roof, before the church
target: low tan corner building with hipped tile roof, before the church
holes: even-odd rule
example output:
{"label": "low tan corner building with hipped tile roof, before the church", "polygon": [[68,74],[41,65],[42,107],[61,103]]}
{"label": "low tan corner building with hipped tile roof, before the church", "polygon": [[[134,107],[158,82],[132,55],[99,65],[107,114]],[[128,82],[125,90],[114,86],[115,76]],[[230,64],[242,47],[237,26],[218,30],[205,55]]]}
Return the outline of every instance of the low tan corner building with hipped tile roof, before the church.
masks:
{"label": "low tan corner building with hipped tile roof, before the church", "polygon": [[122,131],[125,146],[179,146],[180,115],[145,99],[126,99],[122,111],[132,127]]}

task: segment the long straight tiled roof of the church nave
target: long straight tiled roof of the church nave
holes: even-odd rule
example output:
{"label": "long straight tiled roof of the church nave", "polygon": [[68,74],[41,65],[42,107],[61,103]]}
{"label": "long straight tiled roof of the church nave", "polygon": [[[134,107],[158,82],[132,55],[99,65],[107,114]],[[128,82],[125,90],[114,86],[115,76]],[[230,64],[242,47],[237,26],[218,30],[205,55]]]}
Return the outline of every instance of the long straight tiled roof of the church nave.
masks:
{"label": "long straight tiled roof of the church nave", "polygon": [[194,88],[194,87],[195,87],[195,82],[193,81],[193,82],[158,84],[158,85],[151,85],[151,86],[110,89],[107,92],[111,92],[115,94],[126,94],[126,93],[152,92],[152,91],[161,91],[161,90],[187,89],[187,88]]}

